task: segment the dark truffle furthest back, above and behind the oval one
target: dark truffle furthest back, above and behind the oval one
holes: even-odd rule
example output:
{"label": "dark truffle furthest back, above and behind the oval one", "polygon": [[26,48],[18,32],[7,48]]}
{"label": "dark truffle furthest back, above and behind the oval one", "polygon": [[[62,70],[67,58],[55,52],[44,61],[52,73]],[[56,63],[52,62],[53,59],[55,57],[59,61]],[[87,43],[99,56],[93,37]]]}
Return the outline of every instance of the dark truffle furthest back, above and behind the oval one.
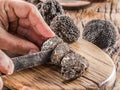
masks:
{"label": "dark truffle furthest back, above and behind the oval one", "polygon": [[46,0],[39,11],[48,25],[55,16],[64,14],[62,6],[56,0]]}

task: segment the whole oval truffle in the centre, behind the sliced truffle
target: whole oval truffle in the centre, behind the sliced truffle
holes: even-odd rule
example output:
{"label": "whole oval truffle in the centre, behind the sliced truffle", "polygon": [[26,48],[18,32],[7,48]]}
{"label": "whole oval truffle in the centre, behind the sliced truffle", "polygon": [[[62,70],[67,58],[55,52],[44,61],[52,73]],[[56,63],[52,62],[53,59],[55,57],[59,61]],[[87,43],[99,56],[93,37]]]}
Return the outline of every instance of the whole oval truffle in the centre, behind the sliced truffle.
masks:
{"label": "whole oval truffle in the centre, behind the sliced truffle", "polygon": [[50,28],[67,43],[75,42],[80,37],[79,29],[68,16],[56,16],[51,22]]}

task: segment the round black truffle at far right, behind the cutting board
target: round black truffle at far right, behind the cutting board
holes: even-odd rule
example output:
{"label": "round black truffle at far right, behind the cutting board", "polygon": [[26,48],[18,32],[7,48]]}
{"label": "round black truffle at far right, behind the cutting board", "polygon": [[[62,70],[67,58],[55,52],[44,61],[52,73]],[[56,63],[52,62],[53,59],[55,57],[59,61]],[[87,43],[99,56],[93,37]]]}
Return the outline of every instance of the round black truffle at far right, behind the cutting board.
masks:
{"label": "round black truffle at far right, behind the cutting board", "polygon": [[84,27],[83,39],[105,49],[116,42],[116,30],[109,21],[92,20]]}

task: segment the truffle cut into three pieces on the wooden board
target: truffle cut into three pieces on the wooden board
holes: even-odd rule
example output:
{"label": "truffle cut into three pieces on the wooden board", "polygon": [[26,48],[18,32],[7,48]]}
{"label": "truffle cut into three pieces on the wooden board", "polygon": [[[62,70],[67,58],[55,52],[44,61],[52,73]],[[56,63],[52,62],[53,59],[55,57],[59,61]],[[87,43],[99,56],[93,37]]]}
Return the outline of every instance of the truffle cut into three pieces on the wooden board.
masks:
{"label": "truffle cut into three pieces on the wooden board", "polygon": [[71,50],[59,37],[53,37],[43,43],[41,51],[51,50],[51,64],[61,67],[63,80],[71,81],[80,77],[88,68],[88,61]]}

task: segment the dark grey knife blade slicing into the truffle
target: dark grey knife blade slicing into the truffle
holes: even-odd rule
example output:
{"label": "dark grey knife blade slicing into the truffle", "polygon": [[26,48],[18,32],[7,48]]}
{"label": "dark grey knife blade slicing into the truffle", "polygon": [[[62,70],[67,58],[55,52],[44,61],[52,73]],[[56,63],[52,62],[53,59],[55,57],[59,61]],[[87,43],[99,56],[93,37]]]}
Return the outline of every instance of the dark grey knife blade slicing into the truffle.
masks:
{"label": "dark grey knife blade slicing into the truffle", "polygon": [[29,55],[12,58],[14,63],[14,72],[27,68],[43,65],[50,61],[51,50],[41,51]]}

